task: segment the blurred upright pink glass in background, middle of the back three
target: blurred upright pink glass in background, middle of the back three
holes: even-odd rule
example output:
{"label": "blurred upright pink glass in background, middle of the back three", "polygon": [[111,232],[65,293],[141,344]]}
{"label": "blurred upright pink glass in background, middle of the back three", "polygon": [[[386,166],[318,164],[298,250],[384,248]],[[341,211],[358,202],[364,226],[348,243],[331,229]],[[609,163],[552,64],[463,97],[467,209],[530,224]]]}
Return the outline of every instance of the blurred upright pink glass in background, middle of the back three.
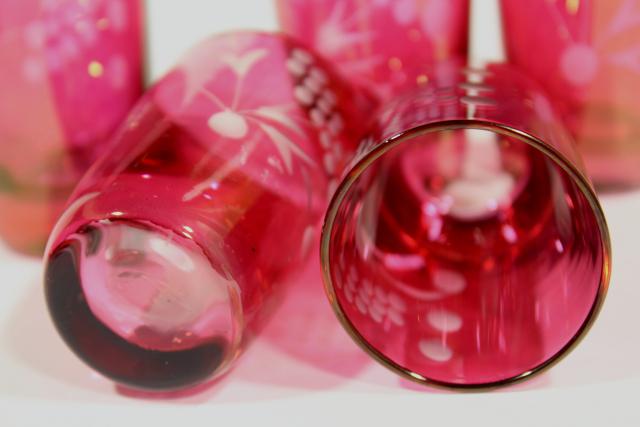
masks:
{"label": "blurred upright pink glass in background, middle of the back three", "polygon": [[442,79],[467,56],[468,0],[276,0],[281,28],[379,97]]}

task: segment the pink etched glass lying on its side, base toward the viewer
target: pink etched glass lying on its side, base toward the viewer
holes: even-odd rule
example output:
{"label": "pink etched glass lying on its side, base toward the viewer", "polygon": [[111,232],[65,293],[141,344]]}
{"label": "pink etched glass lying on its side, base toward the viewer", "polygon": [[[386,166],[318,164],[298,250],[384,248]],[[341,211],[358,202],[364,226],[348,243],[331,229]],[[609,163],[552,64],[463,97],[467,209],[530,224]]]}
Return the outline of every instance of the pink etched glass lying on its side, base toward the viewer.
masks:
{"label": "pink etched glass lying on its side, base toward the viewer", "polygon": [[224,373],[317,236],[368,102],[282,36],[193,49],[133,110],[49,241],[47,303],[71,349],[134,388]]}

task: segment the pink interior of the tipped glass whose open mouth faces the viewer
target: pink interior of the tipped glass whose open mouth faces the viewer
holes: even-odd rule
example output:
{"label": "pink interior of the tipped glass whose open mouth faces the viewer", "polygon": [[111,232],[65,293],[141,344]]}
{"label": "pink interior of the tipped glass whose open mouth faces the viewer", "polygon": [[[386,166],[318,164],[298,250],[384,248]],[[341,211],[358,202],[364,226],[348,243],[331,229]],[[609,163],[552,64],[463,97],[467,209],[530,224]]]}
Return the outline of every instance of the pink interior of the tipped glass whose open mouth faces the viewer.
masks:
{"label": "pink interior of the tipped glass whose open mouth faces the viewer", "polygon": [[329,232],[337,304],[361,338],[453,385],[508,380],[561,352],[605,261],[568,173],[480,129],[403,140],[353,182]]}

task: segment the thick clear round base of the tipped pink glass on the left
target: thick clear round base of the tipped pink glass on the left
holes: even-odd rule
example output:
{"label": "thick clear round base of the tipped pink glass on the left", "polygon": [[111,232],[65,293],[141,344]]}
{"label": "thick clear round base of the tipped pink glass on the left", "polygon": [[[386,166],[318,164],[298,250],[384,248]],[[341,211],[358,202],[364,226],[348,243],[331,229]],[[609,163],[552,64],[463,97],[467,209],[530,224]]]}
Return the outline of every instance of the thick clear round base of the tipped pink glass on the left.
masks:
{"label": "thick clear round base of the tipped pink glass on the left", "polygon": [[237,287],[190,239],[103,220],[49,257],[47,301],[70,347],[124,384],[178,388],[220,368],[239,334]]}

